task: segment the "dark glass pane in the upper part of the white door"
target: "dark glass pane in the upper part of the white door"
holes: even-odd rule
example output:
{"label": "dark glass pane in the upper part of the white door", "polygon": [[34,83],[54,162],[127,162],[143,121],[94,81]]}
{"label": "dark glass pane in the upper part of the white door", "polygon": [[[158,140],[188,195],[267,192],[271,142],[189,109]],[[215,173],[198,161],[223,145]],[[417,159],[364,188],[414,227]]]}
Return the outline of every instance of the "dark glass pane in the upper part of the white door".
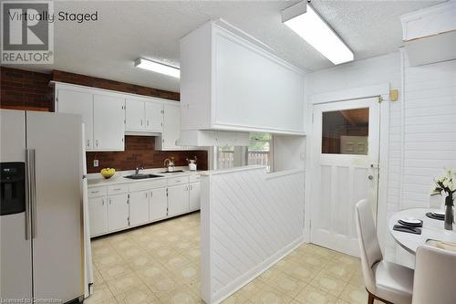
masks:
{"label": "dark glass pane in the upper part of the white door", "polygon": [[368,108],[322,113],[322,153],[368,155]]}

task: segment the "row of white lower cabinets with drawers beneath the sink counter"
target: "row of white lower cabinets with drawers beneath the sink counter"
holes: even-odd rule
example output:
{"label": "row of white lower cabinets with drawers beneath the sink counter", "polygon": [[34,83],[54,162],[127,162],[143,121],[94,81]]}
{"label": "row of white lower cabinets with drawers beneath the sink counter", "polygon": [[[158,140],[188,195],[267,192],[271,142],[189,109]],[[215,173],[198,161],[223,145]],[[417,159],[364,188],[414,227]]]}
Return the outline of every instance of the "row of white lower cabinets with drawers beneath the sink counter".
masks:
{"label": "row of white lower cabinets with drawers beneath the sink counter", "polygon": [[102,236],[199,210],[200,196],[199,175],[174,176],[146,184],[90,187],[90,236]]}

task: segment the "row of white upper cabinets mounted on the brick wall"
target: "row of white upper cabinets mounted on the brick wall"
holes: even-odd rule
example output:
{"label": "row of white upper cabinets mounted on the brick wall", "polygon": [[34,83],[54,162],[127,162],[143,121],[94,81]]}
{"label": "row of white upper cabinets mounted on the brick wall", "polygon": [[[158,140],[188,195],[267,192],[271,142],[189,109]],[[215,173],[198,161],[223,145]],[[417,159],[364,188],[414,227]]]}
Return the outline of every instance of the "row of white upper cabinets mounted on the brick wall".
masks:
{"label": "row of white upper cabinets mounted on the brick wall", "polygon": [[56,82],[56,110],[82,116],[87,151],[123,151],[125,133],[156,136],[157,150],[181,146],[181,102]]}

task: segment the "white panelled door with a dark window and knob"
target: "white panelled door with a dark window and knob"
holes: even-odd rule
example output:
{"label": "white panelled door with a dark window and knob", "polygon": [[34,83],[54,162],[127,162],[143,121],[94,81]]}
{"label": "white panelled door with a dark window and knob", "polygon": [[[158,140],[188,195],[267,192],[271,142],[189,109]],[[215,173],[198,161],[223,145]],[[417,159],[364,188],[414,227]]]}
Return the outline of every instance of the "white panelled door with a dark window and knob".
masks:
{"label": "white panelled door with a dark window and knob", "polygon": [[378,98],[314,106],[311,241],[358,256],[355,204],[377,218]]}

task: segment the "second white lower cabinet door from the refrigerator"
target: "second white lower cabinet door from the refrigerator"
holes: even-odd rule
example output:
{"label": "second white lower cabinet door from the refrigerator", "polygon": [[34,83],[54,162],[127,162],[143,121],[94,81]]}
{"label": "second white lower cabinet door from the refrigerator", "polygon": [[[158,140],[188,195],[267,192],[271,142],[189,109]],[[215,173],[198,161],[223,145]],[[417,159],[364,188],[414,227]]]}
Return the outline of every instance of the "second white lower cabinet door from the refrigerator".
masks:
{"label": "second white lower cabinet door from the refrigerator", "polygon": [[108,197],[108,229],[119,230],[129,226],[129,195],[118,194]]}

